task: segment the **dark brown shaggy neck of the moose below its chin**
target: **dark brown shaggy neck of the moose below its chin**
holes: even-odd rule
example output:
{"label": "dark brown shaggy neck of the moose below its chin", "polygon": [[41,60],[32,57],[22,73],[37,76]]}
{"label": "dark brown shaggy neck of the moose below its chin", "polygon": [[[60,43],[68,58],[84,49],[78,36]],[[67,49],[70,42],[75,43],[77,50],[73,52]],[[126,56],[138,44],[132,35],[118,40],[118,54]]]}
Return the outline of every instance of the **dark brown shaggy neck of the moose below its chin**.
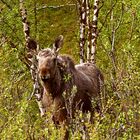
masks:
{"label": "dark brown shaggy neck of the moose below its chin", "polygon": [[44,82],[44,87],[49,95],[54,99],[56,96],[61,95],[63,92],[62,77],[60,70],[57,68],[54,78]]}

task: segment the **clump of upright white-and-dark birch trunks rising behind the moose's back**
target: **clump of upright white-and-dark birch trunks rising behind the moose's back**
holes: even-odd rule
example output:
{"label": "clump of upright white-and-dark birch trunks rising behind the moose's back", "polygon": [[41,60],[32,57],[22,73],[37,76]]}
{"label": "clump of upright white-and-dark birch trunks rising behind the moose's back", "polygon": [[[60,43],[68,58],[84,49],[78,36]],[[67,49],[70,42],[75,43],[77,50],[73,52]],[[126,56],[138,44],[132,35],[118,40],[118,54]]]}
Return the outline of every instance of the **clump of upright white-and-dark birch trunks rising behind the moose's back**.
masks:
{"label": "clump of upright white-and-dark birch trunks rising behind the moose's back", "polygon": [[[88,62],[95,63],[99,0],[94,0],[93,5],[90,0],[79,0],[78,2],[80,3],[80,63],[85,61],[85,56]],[[85,45],[87,45],[86,49]],[[85,52],[87,53],[85,54]]]}

